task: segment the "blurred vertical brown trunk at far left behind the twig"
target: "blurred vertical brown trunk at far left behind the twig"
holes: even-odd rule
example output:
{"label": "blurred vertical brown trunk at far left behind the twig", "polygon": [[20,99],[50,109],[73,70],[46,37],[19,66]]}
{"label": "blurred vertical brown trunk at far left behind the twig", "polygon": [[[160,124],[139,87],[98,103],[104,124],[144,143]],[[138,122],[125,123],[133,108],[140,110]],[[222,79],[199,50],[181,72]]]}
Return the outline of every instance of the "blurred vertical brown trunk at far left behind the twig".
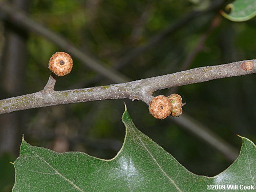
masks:
{"label": "blurred vertical brown trunk at far left behind the twig", "polygon": [[[24,12],[28,11],[28,4],[25,0],[15,0],[13,4]],[[4,90],[0,91],[0,99],[25,94],[24,73],[27,62],[28,34],[26,30],[18,28],[13,23],[6,23],[5,26],[7,46],[3,51],[3,70],[0,71]],[[22,122],[22,117],[20,112],[0,116],[0,154],[18,152],[17,137],[20,134],[19,124]]]}

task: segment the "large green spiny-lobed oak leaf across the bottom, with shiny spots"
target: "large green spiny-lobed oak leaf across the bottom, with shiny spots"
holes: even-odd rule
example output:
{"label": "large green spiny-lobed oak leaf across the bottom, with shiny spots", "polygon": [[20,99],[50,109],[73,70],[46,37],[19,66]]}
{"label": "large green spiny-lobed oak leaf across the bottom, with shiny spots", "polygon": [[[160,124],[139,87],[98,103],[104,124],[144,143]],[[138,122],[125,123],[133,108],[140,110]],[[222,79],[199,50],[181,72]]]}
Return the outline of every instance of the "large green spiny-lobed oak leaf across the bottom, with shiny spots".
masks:
{"label": "large green spiny-lobed oak leaf across the bottom, with shiny spots", "polygon": [[[141,133],[125,109],[124,143],[111,160],[80,152],[56,153],[22,141],[14,192],[37,191],[207,191],[207,185],[255,187],[256,148],[242,137],[238,159],[215,177],[189,172],[161,146]],[[217,190],[218,191],[218,190]],[[227,188],[221,191],[230,191]]]}

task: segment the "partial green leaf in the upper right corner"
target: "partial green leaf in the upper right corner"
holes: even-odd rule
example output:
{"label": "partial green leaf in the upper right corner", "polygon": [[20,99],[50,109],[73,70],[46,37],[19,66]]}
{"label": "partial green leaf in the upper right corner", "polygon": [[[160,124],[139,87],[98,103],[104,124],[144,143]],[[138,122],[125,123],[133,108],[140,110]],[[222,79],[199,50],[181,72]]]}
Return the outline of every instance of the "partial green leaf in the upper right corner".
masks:
{"label": "partial green leaf in the upper right corner", "polygon": [[233,22],[244,22],[249,20],[256,15],[256,1],[255,0],[236,0],[232,4],[226,6],[226,10],[230,10],[227,14],[224,11],[220,13],[232,20]]}

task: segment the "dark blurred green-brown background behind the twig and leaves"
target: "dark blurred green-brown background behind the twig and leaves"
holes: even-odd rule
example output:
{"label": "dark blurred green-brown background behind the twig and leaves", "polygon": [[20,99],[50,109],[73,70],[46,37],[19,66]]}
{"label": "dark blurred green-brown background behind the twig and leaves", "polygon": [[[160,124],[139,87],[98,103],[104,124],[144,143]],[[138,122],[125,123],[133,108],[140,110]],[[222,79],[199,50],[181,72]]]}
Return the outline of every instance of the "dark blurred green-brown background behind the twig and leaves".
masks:
{"label": "dark blurred green-brown background behind the twig and leaves", "polygon": [[[1,1],[3,2],[3,1]],[[105,68],[137,80],[186,69],[255,58],[256,20],[235,23],[219,14],[230,1],[4,1],[0,4],[0,99],[44,88],[48,61],[57,51],[73,56],[71,74],[57,80],[55,90],[117,83],[84,65],[70,52],[75,46]],[[6,11],[3,5],[20,11]],[[15,15],[17,19],[15,20]],[[66,39],[61,46],[52,33],[40,34],[30,18]],[[30,20],[28,20],[30,22]],[[48,36],[47,36],[48,35]],[[49,40],[50,39],[50,40]],[[54,40],[51,40],[54,39]],[[255,142],[255,75],[190,84],[154,95],[180,94],[186,105],[181,126],[171,118],[156,120],[141,101],[105,100],[50,106],[0,115],[0,191],[10,191],[22,134],[35,146],[56,152],[79,151],[113,158],[124,139],[121,116],[127,109],[138,129],[198,175],[214,176],[235,159],[244,136]],[[178,117],[181,118],[181,117]],[[193,122],[196,122],[193,124]],[[189,126],[204,127],[222,138],[234,155],[221,153],[197,137]]]}

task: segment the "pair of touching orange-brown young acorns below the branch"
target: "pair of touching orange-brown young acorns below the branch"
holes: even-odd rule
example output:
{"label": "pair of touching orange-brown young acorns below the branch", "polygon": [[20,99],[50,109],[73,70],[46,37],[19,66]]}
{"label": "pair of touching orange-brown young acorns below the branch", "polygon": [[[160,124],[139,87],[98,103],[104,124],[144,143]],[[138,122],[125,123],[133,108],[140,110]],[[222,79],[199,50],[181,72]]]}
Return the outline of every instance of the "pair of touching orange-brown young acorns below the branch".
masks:
{"label": "pair of touching orange-brown young acorns below the branch", "polygon": [[168,97],[164,95],[154,97],[148,109],[156,119],[165,119],[169,115],[179,117],[182,114],[183,105],[181,96],[175,93]]}

